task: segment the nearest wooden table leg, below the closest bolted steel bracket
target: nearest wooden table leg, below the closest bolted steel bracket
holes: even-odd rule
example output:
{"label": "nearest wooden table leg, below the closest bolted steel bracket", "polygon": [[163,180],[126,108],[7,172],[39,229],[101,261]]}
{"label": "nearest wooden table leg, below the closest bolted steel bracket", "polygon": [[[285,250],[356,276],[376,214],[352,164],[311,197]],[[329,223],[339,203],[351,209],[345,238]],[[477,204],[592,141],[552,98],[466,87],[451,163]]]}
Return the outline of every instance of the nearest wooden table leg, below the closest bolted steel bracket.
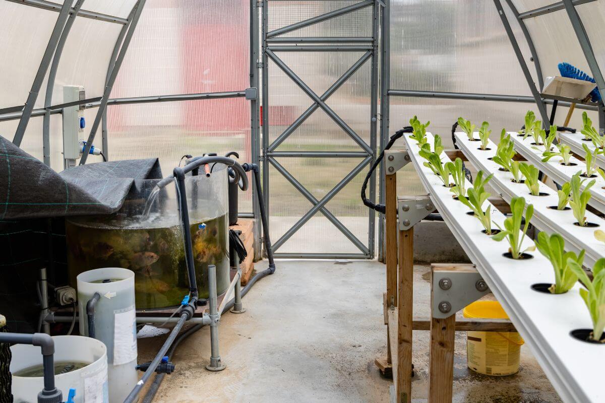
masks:
{"label": "nearest wooden table leg, below the closest bolted steel bracket", "polygon": [[[431,272],[432,274],[432,272]],[[432,284],[431,280],[431,284]],[[431,306],[433,289],[431,288]],[[431,345],[429,351],[428,403],[451,403],[454,382],[454,335],[456,314],[445,319],[433,317],[431,308]]]}

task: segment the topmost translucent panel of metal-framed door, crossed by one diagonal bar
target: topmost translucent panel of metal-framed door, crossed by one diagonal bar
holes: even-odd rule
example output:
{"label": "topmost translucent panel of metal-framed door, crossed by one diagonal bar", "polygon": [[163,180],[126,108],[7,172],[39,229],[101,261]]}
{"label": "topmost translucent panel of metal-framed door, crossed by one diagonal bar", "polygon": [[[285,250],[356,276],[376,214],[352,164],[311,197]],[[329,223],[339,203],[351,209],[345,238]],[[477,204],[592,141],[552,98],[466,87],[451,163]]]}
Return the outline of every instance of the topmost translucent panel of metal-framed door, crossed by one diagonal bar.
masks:
{"label": "topmost translucent panel of metal-framed door, crossed by one diagonal bar", "polygon": [[[286,27],[318,15],[358,4],[361,1],[275,1],[269,2],[268,30]],[[372,36],[372,7],[365,7],[318,24],[310,25],[280,37],[297,36]]]}

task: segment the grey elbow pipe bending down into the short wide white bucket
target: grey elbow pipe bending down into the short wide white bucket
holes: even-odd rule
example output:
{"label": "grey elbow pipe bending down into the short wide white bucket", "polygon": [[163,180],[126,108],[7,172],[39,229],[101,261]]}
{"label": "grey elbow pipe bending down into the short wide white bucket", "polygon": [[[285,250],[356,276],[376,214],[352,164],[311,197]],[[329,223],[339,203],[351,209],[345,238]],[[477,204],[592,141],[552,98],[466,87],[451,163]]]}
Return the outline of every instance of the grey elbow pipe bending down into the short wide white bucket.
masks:
{"label": "grey elbow pipe bending down into the short wide white bucket", "polygon": [[60,403],[63,393],[54,385],[54,340],[45,333],[2,333],[0,343],[31,344],[42,350],[42,367],[44,370],[44,389],[38,393],[38,403]]}

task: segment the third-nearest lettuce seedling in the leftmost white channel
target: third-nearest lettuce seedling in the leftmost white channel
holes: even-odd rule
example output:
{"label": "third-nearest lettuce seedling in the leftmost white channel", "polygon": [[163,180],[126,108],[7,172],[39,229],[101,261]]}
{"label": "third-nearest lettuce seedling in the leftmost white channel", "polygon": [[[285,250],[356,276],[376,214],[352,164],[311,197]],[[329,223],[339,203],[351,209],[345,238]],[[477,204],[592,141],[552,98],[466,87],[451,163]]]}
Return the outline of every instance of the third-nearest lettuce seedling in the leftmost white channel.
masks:
{"label": "third-nearest lettuce seedling in the leftmost white channel", "polygon": [[[493,240],[501,241],[506,238],[509,245],[509,253],[512,259],[521,259],[523,253],[527,251],[535,250],[535,246],[525,248],[521,250],[525,234],[529,228],[529,221],[534,216],[534,205],[529,204],[525,211],[525,226],[521,228],[523,221],[523,208],[525,207],[525,198],[516,197],[511,200],[511,213],[510,217],[507,217],[504,221],[504,228],[498,225],[500,232],[492,235]],[[497,225],[497,224],[496,224]]]}

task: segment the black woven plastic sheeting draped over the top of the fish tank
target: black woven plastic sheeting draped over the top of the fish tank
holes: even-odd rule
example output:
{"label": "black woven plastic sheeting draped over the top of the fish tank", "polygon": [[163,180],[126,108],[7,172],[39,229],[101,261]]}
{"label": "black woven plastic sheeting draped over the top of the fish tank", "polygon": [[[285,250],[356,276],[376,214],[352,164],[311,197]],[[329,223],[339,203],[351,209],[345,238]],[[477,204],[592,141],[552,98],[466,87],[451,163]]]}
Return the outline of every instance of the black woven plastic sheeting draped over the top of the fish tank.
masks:
{"label": "black woven plastic sheeting draped over the top of the fish tank", "polygon": [[57,173],[0,136],[0,221],[111,214],[136,179],[161,179],[157,158],[86,164]]}

